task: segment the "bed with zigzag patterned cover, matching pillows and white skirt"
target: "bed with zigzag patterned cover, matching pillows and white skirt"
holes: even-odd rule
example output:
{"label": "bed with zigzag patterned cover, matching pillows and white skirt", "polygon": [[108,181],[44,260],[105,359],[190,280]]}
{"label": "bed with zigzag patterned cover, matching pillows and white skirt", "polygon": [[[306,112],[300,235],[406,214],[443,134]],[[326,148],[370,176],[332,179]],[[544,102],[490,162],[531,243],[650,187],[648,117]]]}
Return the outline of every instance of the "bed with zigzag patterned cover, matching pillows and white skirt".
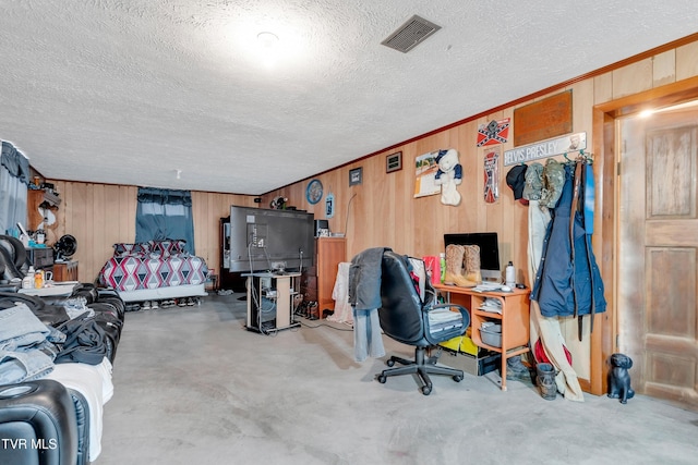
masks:
{"label": "bed with zigzag patterned cover, matching pillows and white skirt", "polygon": [[208,295],[206,261],[184,250],[184,241],[117,243],[99,271],[99,285],[127,303]]}

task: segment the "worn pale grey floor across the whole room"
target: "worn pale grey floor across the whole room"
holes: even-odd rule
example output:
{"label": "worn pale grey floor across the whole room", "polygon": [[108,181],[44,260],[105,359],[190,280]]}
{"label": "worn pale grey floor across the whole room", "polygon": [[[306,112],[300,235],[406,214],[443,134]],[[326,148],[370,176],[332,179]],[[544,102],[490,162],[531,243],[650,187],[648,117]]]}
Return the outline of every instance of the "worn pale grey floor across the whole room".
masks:
{"label": "worn pale grey floor across the whole room", "polygon": [[[695,464],[698,413],[636,395],[543,400],[488,377],[374,380],[340,323],[244,329],[241,294],[127,314],[97,465]],[[412,348],[384,336],[387,354]],[[444,355],[445,357],[446,355]],[[385,358],[385,357],[384,357]]]}

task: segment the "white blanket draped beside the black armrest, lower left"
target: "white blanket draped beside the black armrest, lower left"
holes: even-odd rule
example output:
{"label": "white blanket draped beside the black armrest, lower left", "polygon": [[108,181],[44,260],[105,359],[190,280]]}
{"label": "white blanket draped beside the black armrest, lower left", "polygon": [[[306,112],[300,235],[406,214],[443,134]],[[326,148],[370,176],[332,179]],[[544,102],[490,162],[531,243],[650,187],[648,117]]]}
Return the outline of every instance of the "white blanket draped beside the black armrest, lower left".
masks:
{"label": "white blanket draped beside the black armrest, lower left", "polygon": [[53,371],[45,377],[68,389],[80,392],[89,406],[89,462],[101,452],[101,426],[104,404],[113,395],[111,363],[107,357],[99,365],[57,364]]}

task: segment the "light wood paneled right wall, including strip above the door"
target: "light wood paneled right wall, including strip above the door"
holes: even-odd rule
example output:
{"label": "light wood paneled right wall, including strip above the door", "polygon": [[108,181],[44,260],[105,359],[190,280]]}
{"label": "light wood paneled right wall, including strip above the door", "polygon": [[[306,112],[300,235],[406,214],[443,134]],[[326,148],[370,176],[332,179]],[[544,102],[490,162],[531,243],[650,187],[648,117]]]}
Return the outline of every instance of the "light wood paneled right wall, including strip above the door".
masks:
{"label": "light wood paneled right wall, including strip above the door", "polygon": [[[587,133],[587,151],[593,152],[594,149],[601,149],[594,147],[593,140],[594,106],[696,75],[698,41],[576,82],[549,95],[573,90],[574,132]],[[272,198],[282,195],[289,198],[289,205],[312,211],[316,218],[323,219],[324,201],[313,206],[305,199],[309,181],[318,179],[323,183],[324,194],[332,192],[335,195],[336,213],[329,219],[329,225],[334,232],[347,234],[348,257],[373,246],[389,246],[416,256],[433,255],[443,249],[444,233],[496,231],[500,234],[502,262],[513,260],[517,267],[517,278],[529,282],[525,272],[527,207],[514,201],[512,191],[505,182],[510,167],[503,166],[500,167],[500,201],[484,203],[484,149],[478,148],[476,140],[479,125],[492,120],[513,118],[515,108],[541,100],[549,95],[541,95],[478,120],[301,180],[263,196],[263,205],[268,205]],[[512,140],[513,137],[509,137],[507,144],[500,146],[502,154],[514,147]],[[457,207],[442,205],[438,196],[413,198],[414,159],[442,148],[455,148],[460,154],[464,178],[458,192],[462,201]],[[396,151],[402,151],[404,168],[386,173],[385,157]],[[359,167],[363,169],[363,183],[349,186],[349,171]],[[599,218],[599,221],[603,220]]]}

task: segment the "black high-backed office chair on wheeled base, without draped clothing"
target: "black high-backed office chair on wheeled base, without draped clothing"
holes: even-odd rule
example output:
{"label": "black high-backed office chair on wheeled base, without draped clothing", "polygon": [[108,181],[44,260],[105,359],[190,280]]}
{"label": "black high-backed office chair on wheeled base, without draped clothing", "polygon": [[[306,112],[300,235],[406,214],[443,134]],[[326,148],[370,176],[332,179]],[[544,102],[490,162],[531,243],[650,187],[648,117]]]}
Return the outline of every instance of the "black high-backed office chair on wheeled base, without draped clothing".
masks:
{"label": "black high-backed office chair on wheeled base, without draped clothing", "polygon": [[422,298],[410,274],[410,258],[406,256],[393,250],[383,254],[382,307],[378,309],[381,328],[392,339],[413,345],[414,360],[392,356],[387,360],[389,367],[396,362],[404,366],[383,370],[377,380],[385,383],[390,376],[417,374],[423,382],[422,394],[429,395],[432,392],[430,374],[448,375],[460,382],[464,372],[436,365],[437,357],[425,357],[426,348],[462,335],[470,325],[470,315],[459,305],[438,304],[428,279],[423,279],[425,292]]}

